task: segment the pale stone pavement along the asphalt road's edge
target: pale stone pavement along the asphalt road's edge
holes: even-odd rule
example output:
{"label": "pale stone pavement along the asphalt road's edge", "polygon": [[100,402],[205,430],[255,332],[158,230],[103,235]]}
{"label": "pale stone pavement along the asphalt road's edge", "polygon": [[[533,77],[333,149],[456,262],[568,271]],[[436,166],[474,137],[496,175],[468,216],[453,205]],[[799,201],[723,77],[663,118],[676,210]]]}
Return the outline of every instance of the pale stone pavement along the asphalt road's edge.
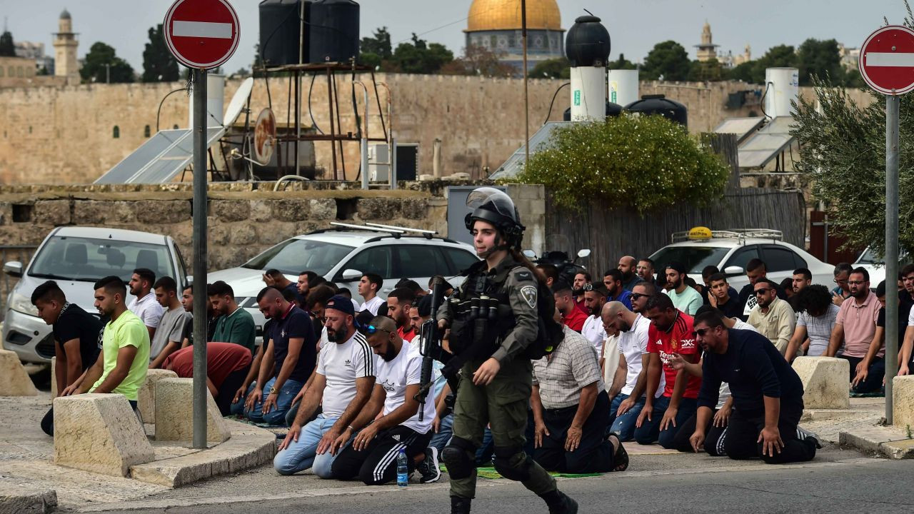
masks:
{"label": "pale stone pavement along the asphalt road's edge", "polygon": [[[290,495],[336,496],[392,490],[390,487],[365,487],[353,482],[322,480],[305,472],[293,477],[280,477],[272,466],[260,465],[250,469],[228,468],[226,474],[172,488],[138,480],[95,475],[55,466],[52,463],[51,438],[41,433],[38,421],[50,405],[48,393],[31,398],[0,398],[0,487],[26,486],[57,491],[61,509],[79,511],[121,511],[144,507],[211,504],[235,498],[256,501],[258,498],[286,498]],[[848,430],[872,428],[882,417],[882,399],[852,399],[851,409],[845,411],[814,410],[804,413],[802,426],[821,436],[825,448],[816,455],[815,466],[854,466],[861,459],[856,451],[847,451],[838,444],[839,434]],[[229,440],[230,442],[231,440]],[[154,443],[159,467],[162,459],[170,462],[192,457],[195,450],[176,445]],[[659,446],[626,444],[632,456],[629,471],[607,474],[602,479],[651,476],[728,470],[763,470],[760,462],[733,461],[707,455],[679,454]],[[169,461],[164,461],[169,462]],[[261,461],[262,462],[262,461]],[[198,477],[197,477],[198,478]],[[504,480],[481,480],[480,487],[494,487]],[[446,475],[438,484],[414,487],[447,487]],[[411,487],[410,487],[411,488]]]}

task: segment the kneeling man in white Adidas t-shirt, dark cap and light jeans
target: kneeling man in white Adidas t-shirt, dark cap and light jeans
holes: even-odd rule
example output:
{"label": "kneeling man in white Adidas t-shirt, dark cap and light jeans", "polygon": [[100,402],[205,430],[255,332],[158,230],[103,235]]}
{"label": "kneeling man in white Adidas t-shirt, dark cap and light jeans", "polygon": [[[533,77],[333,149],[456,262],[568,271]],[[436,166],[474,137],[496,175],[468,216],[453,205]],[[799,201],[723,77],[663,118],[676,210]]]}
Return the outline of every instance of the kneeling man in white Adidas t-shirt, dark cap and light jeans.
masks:
{"label": "kneeling man in white Adidas t-shirt, dark cap and light jeans", "polygon": [[[311,387],[304,393],[273,467],[292,475],[314,466],[314,475],[331,477],[331,466],[348,443],[340,435],[362,412],[375,386],[375,356],[364,336],[356,332],[355,309],[345,296],[336,295],[324,305],[329,339],[317,359]],[[318,405],[323,412],[304,426]]]}

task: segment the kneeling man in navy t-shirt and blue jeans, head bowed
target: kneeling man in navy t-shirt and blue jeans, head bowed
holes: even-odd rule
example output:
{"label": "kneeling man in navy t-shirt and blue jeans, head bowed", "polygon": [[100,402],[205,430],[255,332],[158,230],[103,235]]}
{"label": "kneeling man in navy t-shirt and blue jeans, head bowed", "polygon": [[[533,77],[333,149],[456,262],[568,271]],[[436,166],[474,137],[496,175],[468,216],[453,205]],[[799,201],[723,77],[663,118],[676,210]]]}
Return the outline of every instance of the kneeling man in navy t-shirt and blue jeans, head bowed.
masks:
{"label": "kneeling man in navy t-shirt and blue jeans, head bowed", "polygon": [[317,337],[311,316],[283,298],[278,289],[264,287],[257,295],[257,305],[273,324],[244,412],[254,422],[285,424],[292,400],[314,370]]}

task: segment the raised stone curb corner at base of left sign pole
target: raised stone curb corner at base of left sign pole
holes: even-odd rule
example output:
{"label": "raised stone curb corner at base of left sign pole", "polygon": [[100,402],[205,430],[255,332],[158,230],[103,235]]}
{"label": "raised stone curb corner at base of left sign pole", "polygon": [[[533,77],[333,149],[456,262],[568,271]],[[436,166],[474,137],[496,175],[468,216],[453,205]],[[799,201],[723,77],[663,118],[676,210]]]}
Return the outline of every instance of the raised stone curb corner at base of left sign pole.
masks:
{"label": "raised stone curb corner at base of left sign pole", "polygon": [[207,450],[131,466],[134,480],[158,486],[181,487],[218,475],[271,463],[276,435],[250,424],[226,420],[231,438]]}

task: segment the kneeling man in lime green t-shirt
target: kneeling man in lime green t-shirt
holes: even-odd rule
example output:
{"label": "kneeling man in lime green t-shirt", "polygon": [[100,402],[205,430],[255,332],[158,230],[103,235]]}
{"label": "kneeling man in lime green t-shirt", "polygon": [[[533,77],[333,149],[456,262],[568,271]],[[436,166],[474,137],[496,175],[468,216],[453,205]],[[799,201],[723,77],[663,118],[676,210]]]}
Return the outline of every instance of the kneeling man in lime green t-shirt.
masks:
{"label": "kneeling man in lime green t-shirt", "polygon": [[149,331],[127,310],[126,295],[126,286],[116,276],[95,283],[95,307],[111,321],[105,325],[99,359],[80,380],[78,392],[120,393],[135,407],[149,366]]}

